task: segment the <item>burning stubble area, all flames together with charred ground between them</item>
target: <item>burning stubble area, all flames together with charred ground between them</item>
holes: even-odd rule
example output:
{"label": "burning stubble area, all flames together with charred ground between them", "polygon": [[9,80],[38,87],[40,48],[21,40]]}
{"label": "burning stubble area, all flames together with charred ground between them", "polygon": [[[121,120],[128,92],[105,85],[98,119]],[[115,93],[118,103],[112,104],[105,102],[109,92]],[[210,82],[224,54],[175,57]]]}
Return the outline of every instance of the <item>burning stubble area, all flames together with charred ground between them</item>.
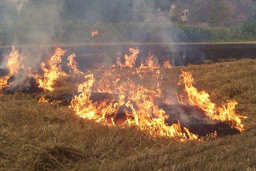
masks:
{"label": "burning stubble area, all flames together with charred ground between them", "polygon": [[[26,56],[13,48],[0,78],[2,96],[15,92],[40,94],[39,102],[67,106],[83,119],[110,127],[136,127],[153,137],[179,141],[202,141],[205,136],[217,138],[245,131],[246,117],[236,112],[237,101],[226,99],[218,106],[207,92],[194,87],[193,76],[183,70],[175,82],[183,91],[179,93],[173,86],[166,90],[163,72],[174,72],[170,62],[160,66],[149,53],[135,67],[139,49],[129,51],[109,68],[83,73],[75,54],[66,56],[69,70],[63,71],[61,60],[67,51],[61,48],[55,49],[47,63],[41,62],[40,70],[26,67]],[[76,80],[76,87],[56,93],[61,79]]]}

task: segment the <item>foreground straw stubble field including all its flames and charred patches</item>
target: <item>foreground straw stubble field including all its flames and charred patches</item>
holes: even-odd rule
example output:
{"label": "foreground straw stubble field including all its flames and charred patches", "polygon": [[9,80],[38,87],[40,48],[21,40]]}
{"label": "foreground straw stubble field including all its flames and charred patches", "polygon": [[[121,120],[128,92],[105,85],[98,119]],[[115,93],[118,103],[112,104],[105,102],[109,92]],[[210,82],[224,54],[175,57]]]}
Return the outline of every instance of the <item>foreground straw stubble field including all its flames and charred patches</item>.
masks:
{"label": "foreground straw stubble field including all its flames and charred patches", "polygon": [[[151,54],[138,68],[128,59],[140,51],[130,51],[112,68],[84,71],[78,63],[75,73],[75,54],[60,48],[37,72],[13,50],[18,57],[1,63],[1,168],[253,168],[255,60],[170,68]],[[15,83],[19,73],[30,79]]]}

